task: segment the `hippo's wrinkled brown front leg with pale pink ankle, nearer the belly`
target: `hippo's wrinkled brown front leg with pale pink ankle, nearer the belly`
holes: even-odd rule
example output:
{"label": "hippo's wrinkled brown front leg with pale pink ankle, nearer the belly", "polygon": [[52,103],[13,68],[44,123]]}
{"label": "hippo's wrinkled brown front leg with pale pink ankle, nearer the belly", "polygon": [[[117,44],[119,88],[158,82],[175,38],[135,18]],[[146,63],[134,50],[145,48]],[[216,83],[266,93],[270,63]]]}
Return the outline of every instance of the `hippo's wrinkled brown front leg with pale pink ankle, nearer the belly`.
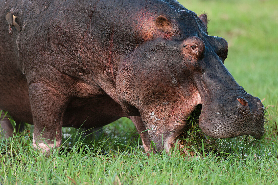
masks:
{"label": "hippo's wrinkled brown front leg with pale pink ankle, nearer the belly", "polygon": [[34,121],[33,146],[49,154],[62,142],[63,116],[69,98],[44,82],[32,83],[29,96]]}

